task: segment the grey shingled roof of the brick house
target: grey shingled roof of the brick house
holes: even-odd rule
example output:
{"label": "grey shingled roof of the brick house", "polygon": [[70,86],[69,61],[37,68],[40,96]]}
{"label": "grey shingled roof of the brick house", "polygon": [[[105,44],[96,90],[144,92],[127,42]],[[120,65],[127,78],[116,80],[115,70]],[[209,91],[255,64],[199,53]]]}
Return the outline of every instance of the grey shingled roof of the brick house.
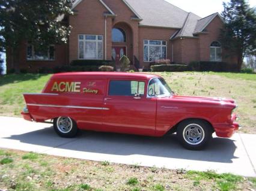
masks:
{"label": "grey shingled roof of the brick house", "polygon": [[[74,0],[73,8],[75,8],[83,0]],[[109,11],[109,14],[115,16],[114,11],[108,5],[100,1],[102,5]],[[139,26],[152,26],[159,28],[180,29],[172,35],[171,39],[177,37],[195,37],[196,34],[204,32],[204,29],[219,16],[219,13],[211,14],[203,19],[194,13],[187,13],[175,5],[165,0],[120,0],[135,14],[133,19],[139,21]]]}

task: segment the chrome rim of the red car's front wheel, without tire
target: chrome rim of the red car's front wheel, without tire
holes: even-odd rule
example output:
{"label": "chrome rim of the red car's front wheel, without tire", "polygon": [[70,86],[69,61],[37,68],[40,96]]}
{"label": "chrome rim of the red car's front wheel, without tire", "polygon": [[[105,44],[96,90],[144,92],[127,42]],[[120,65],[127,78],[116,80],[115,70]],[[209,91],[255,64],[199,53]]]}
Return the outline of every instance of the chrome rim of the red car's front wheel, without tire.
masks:
{"label": "chrome rim of the red car's front wheel, without tire", "polygon": [[204,136],[204,129],[198,124],[189,124],[183,130],[183,138],[188,144],[200,144]]}

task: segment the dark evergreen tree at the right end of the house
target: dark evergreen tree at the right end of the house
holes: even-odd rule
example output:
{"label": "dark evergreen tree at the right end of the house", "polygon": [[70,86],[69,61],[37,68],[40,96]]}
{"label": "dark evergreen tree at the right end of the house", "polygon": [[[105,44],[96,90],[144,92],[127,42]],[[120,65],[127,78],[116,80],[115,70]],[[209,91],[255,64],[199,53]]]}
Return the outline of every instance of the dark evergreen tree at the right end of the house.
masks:
{"label": "dark evergreen tree at the right end of the house", "polygon": [[223,5],[225,29],[221,32],[222,47],[237,56],[240,71],[243,59],[256,54],[256,10],[245,0],[231,0]]}

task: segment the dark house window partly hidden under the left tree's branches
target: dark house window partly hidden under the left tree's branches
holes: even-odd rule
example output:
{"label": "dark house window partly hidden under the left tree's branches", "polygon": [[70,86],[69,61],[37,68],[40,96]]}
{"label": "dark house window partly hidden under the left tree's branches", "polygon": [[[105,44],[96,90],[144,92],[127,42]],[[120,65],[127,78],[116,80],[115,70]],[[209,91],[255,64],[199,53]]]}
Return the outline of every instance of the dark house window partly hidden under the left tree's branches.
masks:
{"label": "dark house window partly hidden under the left tree's branches", "polygon": [[50,45],[48,50],[37,50],[33,45],[28,44],[26,47],[26,59],[27,60],[54,60],[55,59],[55,47]]}

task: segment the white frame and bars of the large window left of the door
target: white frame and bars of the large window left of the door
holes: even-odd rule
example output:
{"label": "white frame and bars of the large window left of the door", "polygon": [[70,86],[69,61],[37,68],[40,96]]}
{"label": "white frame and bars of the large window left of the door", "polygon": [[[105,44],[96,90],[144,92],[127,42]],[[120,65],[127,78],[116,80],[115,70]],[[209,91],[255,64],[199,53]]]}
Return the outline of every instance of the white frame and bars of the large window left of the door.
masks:
{"label": "white frame and bars of the large window left of the door", "polygon": [[[80,35],[83,35],[84,36],[84,39],[83,40],[80,40],[79,39],[79,36]],[[93,36],[96,36],[96,40],[86,40],[85,39],[85,36],[86,35],[93,35]],[[102,40],[98,40],[98,36],[101,36],[102,37]],[[103,57],[104,57],[104,39],[103,39],[104,37],[103,37],[103,35],[101,35],[101,34],[78,34],[78,60],[103,60]],[[96,54],[97,54],[97,57],[99,57],[99,55],[98,55],[98,43],[100,42],[100,43],[102,43],[102,58],[96,58],[96,59],[88,59],[88,58],[85,58],[85,43],[86,43],[86,41],[89,41],[89,42],[96,42]],[[80,53],[80,50],[79,50],[79,43],[80,42],[83,42],[84,43],[84,58],[80,58],[80,55],[79,55],[79,53]]]}

